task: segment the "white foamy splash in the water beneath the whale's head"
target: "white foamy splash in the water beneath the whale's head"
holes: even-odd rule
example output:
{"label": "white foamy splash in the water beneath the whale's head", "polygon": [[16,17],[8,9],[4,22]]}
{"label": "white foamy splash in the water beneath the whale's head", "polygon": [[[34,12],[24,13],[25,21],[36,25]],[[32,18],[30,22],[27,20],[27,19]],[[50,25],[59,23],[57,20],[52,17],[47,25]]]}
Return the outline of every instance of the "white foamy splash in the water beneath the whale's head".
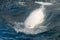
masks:
{"label": "white foamy splash in the water beneath the whale's head", "polygon": [[23,29],[21,29],[21,26],[19,26],[17,22],[13,28],[17,33],[23,32],[25,34],[37,34],[37,33],[42,33],[47,30],[46,26],[40,26],[40,27],[37,26],[36,28],[23,28]]}

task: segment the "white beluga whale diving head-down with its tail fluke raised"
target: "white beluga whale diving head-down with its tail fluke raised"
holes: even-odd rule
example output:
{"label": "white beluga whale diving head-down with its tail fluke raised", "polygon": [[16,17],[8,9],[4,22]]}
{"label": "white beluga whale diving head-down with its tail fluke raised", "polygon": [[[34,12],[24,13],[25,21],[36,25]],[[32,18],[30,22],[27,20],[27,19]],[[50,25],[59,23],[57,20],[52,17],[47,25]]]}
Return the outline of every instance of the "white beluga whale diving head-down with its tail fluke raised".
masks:
{"label": "white beluga whale diving head-down with its tail fluke raised", "polygon": [[48,2],[37,2],[37,4],[41,4],[41,7],[37,8],[36,10],[32,11],[30,15],[25,20],[24,24],[26,28],[34,28],[36,25],[41,24],[44,22],[45,17],[45,5],[52,5],[52,3]]}

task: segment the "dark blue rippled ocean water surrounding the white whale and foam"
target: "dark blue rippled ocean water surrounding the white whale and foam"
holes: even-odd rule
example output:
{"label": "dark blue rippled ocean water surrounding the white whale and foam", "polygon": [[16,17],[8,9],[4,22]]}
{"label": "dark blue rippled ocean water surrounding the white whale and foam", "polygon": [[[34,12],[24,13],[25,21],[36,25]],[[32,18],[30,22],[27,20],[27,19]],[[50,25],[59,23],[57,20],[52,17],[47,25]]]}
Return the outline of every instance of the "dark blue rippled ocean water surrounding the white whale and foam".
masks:
{"label": "dark blue rippled ocean water surrounding the white whale and foam", "polygon": [[[48,6],[49,15],[47,19],[51,17],[51,20],[48,19],[47,22],[52,22],[49,25],[50,30],[38,33],[36,35],[17,33],[12,27],[9,26],[10,22],[24,22],[28,17],[29,13],[38,8],[39,4],[31,4],[26,2],[26,6],[19,5],[20,0],[0,0],[0,40],[60,40],[60,5]],[[16,4],[17,3],[17,4]],[[35,7],[36,6],[36,7]]]}

